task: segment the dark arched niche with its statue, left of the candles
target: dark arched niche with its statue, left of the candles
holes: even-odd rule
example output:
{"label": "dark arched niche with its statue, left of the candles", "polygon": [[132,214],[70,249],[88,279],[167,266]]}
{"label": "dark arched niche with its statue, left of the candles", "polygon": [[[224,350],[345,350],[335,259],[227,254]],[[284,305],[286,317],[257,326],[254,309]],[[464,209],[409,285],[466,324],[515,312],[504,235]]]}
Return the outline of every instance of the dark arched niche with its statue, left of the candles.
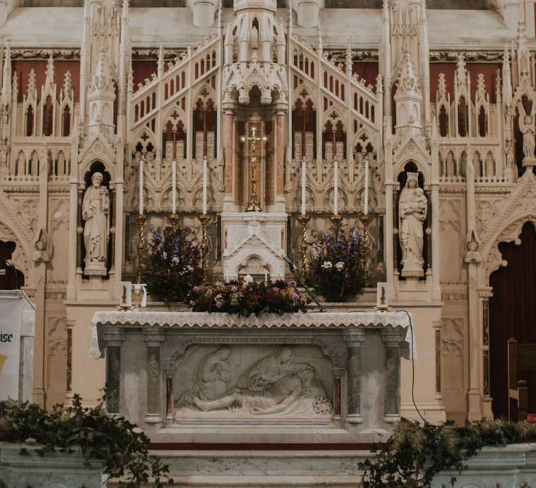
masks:
{"label": "dark arched niche with its statue, left of the candles", "polygon": [[[112,201],[108,186],[110,174],[102,162],[94,162],[84,176],[86,189],[80,206],[82,255],[84,275],[106,276],[111,266],[112,240],[110,216]],[[80,239],[80,234],[79,234]]]}

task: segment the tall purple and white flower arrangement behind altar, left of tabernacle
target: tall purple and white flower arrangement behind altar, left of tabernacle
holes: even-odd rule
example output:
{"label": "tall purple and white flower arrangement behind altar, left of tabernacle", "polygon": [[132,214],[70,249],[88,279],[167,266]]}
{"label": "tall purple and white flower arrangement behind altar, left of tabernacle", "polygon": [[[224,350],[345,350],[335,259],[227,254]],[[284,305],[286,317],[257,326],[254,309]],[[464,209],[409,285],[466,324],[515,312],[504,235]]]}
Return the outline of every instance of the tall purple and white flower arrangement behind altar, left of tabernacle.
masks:
{"label": "tall purple and white flower arrangement behind altar, left of tabernacle", "polygon": [[142,258],[147,291],[167,305],[182,303],[192,287],[202,283],[201,246],[188,227],[150,231],[149,252]]}

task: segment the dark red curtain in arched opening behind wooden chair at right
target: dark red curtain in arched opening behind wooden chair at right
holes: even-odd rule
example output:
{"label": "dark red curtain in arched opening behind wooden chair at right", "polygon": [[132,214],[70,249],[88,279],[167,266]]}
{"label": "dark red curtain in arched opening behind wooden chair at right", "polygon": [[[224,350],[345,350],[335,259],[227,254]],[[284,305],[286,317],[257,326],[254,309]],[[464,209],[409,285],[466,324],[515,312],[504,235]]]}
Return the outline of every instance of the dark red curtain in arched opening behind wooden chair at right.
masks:
{"label": "dark red curtain in arched opening behind wooden chair at right", "polygon": [[[522,227],[521,227],[522,225]],[[516,225],[514,241],[495,244],[502,259],[489,275],[489,381],[496,417],[507,416],[507,340],[536,343],[536,229],[534,221]],[[529,383],[529,411],[536,411],[536,374]]]}

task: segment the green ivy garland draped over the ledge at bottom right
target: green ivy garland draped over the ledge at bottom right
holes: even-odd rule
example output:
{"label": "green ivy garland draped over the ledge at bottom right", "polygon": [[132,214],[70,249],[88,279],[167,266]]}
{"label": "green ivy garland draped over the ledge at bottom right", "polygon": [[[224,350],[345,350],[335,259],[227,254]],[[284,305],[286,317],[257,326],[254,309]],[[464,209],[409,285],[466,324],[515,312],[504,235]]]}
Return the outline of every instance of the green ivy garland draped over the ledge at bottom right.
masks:
{"label": "green ivy garland draped over the ledge at bottom right", "polygon": [[[536,424],[480,420],[466,427],[453,422],[419,425],[399,422],[394,434],[359,464],[363,488],[430,488],[440,471],[465,469],[466,461],[487,446],[535,442]],[[454,486],[456,477],[451,478]]]}

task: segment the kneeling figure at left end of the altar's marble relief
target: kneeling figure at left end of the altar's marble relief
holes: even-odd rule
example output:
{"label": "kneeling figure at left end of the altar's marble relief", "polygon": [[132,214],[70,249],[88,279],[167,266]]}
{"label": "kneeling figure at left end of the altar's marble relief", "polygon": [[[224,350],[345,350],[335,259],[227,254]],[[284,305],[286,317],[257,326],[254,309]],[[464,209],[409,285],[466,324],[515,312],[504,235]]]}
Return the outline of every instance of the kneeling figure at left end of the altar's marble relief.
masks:
{"label": "kneeling figure at left end of the altar's marble relief", "polygon": [[195,398],[210,401],[228,393],[232,386],[230,356],[231,349],[228,346],[221,346],[216,352],[204,356],[195,385],[181,395],[177,405],[193,406]]}

